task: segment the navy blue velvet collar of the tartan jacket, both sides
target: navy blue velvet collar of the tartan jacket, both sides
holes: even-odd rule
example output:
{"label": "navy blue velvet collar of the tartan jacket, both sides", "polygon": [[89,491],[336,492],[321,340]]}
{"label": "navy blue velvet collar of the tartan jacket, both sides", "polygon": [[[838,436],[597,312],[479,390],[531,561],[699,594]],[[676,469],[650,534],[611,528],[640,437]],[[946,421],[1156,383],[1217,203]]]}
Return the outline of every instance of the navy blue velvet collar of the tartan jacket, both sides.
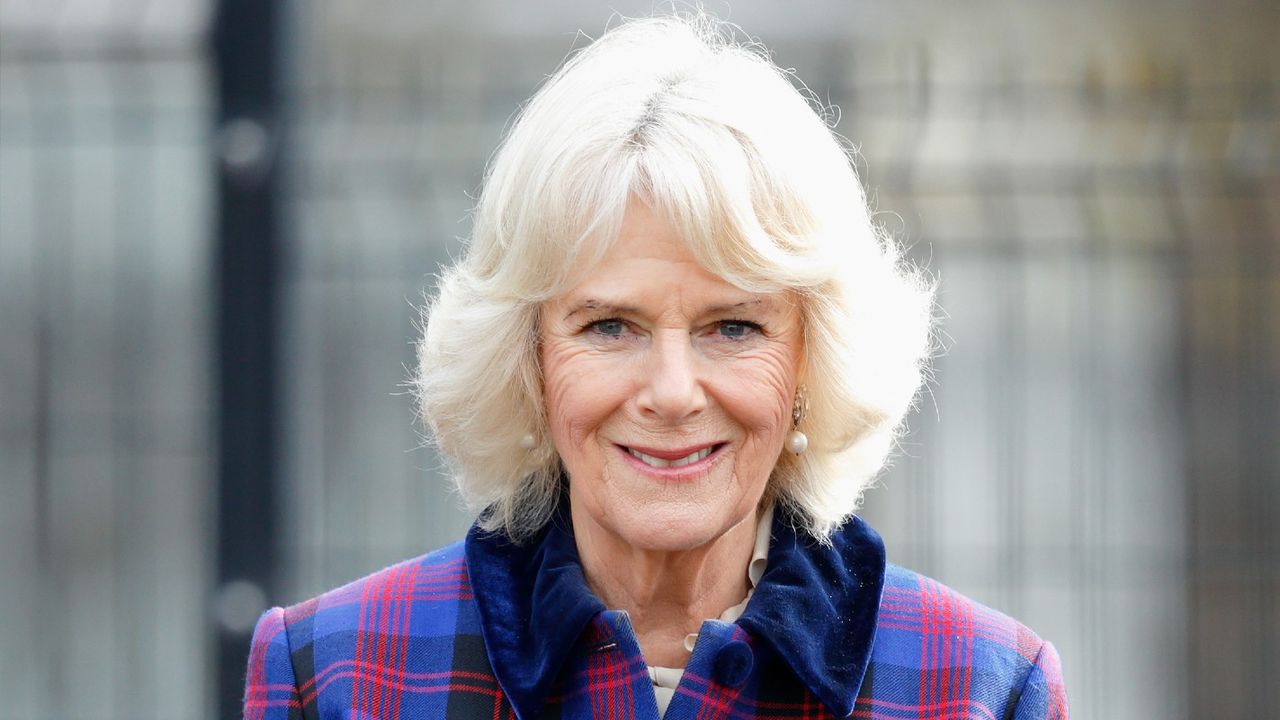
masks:
{"label": "navy blue velvet collar of the tartan jacket, both sides", "polygon": [[[485,648],[521,719],[536,717],[582,629],[605,607],[577,557],[567,500],[525,544],[475,527],[466,559]],[[837,717],[854,711],[884,585],[884,544],[859,518],[829,547],[773,514],[769,562],[737,624],[760,638]]]}

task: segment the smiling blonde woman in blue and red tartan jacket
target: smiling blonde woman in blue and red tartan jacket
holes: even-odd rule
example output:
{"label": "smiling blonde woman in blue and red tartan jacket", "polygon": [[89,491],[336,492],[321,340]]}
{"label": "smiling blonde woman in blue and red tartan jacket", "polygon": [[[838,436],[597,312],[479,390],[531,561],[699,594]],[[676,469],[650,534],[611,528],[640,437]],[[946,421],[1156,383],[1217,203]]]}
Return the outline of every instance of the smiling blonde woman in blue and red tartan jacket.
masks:
{"label": "smiling blonde woman in blue and red tartan jacket", "polygon": [[854,510],[932,291],[846,150],[707,19],[538,91],[425,316],[467,538],[253,635],[247,717],[1065,717],[1057,656]]}

